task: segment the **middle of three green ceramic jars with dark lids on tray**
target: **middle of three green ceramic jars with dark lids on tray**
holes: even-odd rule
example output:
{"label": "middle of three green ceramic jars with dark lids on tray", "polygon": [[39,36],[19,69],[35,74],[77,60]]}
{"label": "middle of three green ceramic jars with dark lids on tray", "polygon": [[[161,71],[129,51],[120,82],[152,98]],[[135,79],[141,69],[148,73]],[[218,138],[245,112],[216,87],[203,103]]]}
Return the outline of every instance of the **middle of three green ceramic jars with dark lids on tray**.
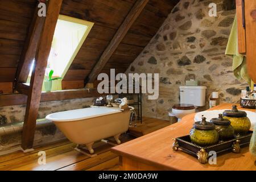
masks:
{"label": "middle of three green ceramic jars with dark lids on tray", "polygon": [[229,139],[234,137],[234,128],[229,119],[223,118],[222,114],[218,115],[218,118],[212,118],[210,120],[215,125],[215,129],[218,131],[219,139]]}

